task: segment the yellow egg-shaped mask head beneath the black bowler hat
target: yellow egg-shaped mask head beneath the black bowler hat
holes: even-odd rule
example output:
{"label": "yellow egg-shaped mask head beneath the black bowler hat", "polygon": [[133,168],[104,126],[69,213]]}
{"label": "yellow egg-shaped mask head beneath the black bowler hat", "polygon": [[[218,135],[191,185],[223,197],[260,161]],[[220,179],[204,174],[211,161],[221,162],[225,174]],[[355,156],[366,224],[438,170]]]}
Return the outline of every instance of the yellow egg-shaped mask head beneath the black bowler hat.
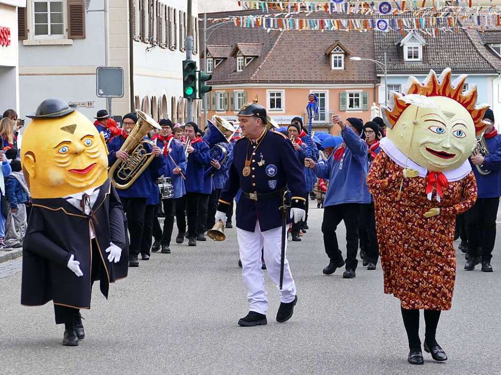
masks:
{"label": "yellow egg-shaped mask head beneath the black bowler hat", "polygon": [[21,164],[33,198],[59,198],[108,178],[104,137],[81,113],[35,118],[23,135]]}

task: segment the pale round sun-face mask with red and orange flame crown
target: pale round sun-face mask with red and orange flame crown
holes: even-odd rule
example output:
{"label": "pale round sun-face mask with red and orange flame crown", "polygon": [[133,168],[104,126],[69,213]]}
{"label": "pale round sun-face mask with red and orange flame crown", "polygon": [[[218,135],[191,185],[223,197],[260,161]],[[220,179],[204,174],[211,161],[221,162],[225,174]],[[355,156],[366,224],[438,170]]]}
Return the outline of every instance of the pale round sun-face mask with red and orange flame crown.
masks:
{"label": "pale round sun-face mask with red and orange flame crown", "polygon": [[393,93],[393,108],[383,110],[388,139],[428,171],[460,167],[487,126],[482,118],[488,106],[475,107],[476,87],[462,92],[466,77],[451,82],[448,68],[440,77],[430,71],[423,84],[410,77],[407,94]]}

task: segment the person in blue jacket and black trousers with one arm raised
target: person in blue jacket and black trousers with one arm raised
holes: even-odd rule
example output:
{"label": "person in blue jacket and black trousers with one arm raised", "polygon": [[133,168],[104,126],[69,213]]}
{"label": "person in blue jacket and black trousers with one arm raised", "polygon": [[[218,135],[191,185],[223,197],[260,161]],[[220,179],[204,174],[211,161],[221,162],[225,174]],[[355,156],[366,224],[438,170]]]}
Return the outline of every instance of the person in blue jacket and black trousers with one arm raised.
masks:
{"label": "person in blue jacket and black trousers with one arm raised", "polygon": [[370,203],[370,194],[365,179],[369,170],[367,144],[360,138],[362,119],[350,117],[346,123],[335,115],[333,123],[341,127],[343,142],[329,159],[316,163],[310,158],[305,165],[313,169],[319,178],[329,180],[324,202],[322,233],[324,246],[330,262],[323,272],[334,273],[345,265],[336,237],[336,228],[344,221],[346,227],[346,271],[343,278],[354,278],[357,268],[358,216],[361,203]]}

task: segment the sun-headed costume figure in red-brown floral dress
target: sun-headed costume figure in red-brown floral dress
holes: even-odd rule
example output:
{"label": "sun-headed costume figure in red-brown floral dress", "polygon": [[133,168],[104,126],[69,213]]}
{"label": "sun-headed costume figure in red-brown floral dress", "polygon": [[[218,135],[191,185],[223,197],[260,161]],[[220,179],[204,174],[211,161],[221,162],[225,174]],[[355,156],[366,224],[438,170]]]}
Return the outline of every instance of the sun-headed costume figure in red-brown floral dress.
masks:
{"label": "sun-headed costume figure in red-brown floral dress", "polygon": [[476,87],[463,92],[465,80],[461,75],[452,82],[450,69],[440,76],[430,71],[423,83],[410,77],[406,94],[392,93],[383,109],[382,151],[367,175],[384,292],[400,299],[411,347],[419,340],[419,309],[425,310],[428,332],[428,323],[435,321],[436,329],[440,311],[451,308],[455,219],[477,196],[468,157],[486,126],[487,106],[476,105]]}

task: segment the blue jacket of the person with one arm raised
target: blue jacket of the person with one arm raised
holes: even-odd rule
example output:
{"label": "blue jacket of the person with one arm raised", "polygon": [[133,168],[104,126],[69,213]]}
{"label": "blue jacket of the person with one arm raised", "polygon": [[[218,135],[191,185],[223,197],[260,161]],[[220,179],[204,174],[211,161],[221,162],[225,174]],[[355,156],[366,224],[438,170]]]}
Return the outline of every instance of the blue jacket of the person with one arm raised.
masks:
{"label": "blue jacket of the person with one arm raised", "polygon": [[[318,177],[329,180],[324,207],[343,203],[370,203],[366,182],[369,170],[367,144],[348,127],[341,131],[341,137],[344,143],[334,150],[329,159],[318,162],[315,167]],[[336,151],[342,152],[343,147],[340,160],[335,160]]]}

